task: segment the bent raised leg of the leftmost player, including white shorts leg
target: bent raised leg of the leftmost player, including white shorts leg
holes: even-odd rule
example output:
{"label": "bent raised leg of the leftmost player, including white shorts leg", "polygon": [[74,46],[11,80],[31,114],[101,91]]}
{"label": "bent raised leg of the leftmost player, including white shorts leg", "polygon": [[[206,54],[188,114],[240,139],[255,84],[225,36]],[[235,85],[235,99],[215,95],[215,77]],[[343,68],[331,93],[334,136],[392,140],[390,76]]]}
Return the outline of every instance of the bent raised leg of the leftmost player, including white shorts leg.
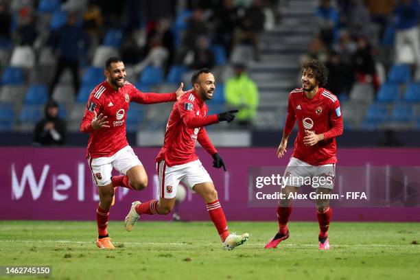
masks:
{"label": "bent raised leg of the leftmost player, including white shorts leg", "polygon": [[113,166],[123,174],[112,176],[114,187],[126,187],[137,191],[147,187],[148,174],[130,146],[122,148],[115,154]]}

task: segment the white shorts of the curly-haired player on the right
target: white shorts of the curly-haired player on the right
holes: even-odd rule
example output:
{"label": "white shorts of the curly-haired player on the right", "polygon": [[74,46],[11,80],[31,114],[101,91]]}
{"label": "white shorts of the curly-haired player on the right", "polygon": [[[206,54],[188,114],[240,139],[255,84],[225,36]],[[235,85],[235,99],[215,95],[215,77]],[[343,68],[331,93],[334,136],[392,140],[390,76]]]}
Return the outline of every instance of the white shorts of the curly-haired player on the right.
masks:
{"label": "white shorts of the curly-haired player on the right", "polygon": [[334,178],[336,177],[336,164],[310,165],[292,156],[288,167],[285,169],[284,177],[285,185],[292,187],[301,187],[309,184],[315,189],[318,187],[333,189]]}

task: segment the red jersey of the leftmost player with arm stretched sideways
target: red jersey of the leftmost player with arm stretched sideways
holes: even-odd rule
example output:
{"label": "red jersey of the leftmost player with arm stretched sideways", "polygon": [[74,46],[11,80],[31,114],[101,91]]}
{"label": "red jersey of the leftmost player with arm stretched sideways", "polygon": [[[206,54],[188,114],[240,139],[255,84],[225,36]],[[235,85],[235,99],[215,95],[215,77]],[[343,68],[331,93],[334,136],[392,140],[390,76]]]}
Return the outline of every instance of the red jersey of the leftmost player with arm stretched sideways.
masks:
{"label": "red jersey of the leftmost player with arm stretched sideways", "polygon": [[[89,100],[80,125],[81,132],[90,132],[89,143],[86,157],[92,159],[102,156],[112,156],[126,145],[126,118],[130,102],[140,104],[153,104],[160,102],[176,101],[175,93],[142,93],[130,82],[125,82],[124,86],[115,91],[110,84],[104,82],[95,86]],[[107,116],[110,128],[100,128],[94,130],[91,122],[93,112]]]}

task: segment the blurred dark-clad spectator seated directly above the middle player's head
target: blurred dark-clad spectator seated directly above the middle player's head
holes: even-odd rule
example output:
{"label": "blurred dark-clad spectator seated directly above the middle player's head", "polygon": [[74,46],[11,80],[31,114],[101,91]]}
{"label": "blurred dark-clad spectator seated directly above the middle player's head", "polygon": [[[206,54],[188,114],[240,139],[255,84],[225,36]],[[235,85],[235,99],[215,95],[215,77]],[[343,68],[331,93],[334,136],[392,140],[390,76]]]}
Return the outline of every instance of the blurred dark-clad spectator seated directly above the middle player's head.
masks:
{"label": "blurred dark-clad spectator seated directly above the middle player's head", "polygon": [[191,69],[212,69],[215,65],[214,54],[210,49],[210,39],[206,36],[200,36],[197,39],[194,49],[192,62],[187,63]]}

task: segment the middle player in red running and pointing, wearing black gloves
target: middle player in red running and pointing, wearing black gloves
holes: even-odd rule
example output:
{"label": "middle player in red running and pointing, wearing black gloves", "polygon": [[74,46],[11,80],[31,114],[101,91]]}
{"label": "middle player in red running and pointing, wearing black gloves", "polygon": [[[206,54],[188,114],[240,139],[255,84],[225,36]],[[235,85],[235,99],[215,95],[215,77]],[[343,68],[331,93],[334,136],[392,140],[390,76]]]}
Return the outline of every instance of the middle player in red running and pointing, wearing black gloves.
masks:
{"label": "middle player in red running and pointing, wearing black gloves", "polygon": [[231,122],[235,118],[230,110],[216,115],[207,115],[206,100],[213,98],[215,80],[208,69],[200,69],[192,75],[193,89],[187,92],[174,105],[167,121],[163,148],[156,157],[156,169],[159,176],[159,200],[140,203],[132,202],[126,217],[126,230],[131,231],[140,215],[167,215],[175,204],[176,189],[180,181],[207,203],[207,211],[215,225],[222,246],[232,250],[248,240],[248,233],[235,235],[229,233],[218,192],[213,181],[196,155],[196,141],[213,156],[213,167],[220,168],[224,162],[211,143],[204,126],[217,124],[219,121]]}

